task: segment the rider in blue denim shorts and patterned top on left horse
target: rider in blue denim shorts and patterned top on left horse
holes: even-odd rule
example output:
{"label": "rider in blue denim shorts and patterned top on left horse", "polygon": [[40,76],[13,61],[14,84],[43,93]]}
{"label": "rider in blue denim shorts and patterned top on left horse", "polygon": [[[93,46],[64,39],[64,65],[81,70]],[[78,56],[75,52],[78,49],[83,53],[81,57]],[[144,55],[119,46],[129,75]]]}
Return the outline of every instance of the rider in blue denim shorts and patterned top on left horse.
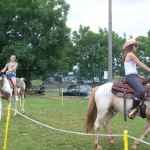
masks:
{"label": "rider in blue denim shorts and patterned top on left horse", "polygon": [[16,60],[16,55],[12,54],[10,56],[10,62],[5,65],[5,67],[1,70],[1,72],[6,71],[6,77],[11,78],[13,86],[14,86],[14,95],[15,95],[15,100],[18,101],[18,96],[17,96],[17,85],[16,85],[16,69],[18,67],[18,63],[15,62]]}

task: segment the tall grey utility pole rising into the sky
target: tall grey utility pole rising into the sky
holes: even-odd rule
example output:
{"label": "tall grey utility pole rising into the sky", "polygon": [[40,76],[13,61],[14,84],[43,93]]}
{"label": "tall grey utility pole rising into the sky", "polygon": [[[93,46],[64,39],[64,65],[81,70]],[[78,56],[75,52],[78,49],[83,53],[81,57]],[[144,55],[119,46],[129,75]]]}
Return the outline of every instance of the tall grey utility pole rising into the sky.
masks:
{"label": "tall grey utility pole rising into the sky", "polygon": [[112,82],[112,1],[108,9],[108,82]]}

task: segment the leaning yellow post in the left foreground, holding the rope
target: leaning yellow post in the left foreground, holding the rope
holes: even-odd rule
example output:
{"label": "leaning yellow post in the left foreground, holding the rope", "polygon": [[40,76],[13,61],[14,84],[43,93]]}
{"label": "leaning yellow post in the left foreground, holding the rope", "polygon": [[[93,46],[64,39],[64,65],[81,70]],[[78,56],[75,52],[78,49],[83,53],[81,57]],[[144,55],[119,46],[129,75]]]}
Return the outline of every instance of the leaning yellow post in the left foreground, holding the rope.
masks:
{"label": "leaning yellow post in the left foreground, holding the rope", "polygon": [[8,136],[8,126],[10,120],[10,108],[11,104],[8,105],[8,113],[7,113],[7,120],[6,120],[6,130],[5,130],[5,140],[4,140],[4,150],[6,150],[6,143],[7,143],[7,136]]}

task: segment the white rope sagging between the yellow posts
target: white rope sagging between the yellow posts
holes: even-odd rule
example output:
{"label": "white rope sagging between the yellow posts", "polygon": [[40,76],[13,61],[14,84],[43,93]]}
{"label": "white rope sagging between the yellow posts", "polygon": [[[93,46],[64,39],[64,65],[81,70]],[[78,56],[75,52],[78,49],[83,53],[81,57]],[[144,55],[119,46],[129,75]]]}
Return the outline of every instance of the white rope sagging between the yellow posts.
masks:
{"label": "white rope sagging between the yellow posts", "polygon": [[[4,108],[5,109],[5,108]],[[13,109],[13,108],[11,108],[13,111],[15,111],[15,109]],[[85,135],[85,136],[116,136],[116,137],[119,137],[119,136],[124,136],[124,134],[89,134],[89,133],[81,133],[81,132],[74,132],[74,131],[67,131],[67,130],[63,130],[63,129],[57,129],[57,128],[54,128],[54,127],[51,127],[51,126],[48,126],[48,125],[45,125],[45,124],[43,124],[43,123],[40,123],[40,122],[38,122],[38,121],[36,121],[36,120],[33,120],[33,119],[31,119],[31,118],[29,118],[29,117],[27,117],[27,116],[25,116],[25,115],[23,115],[23,114],[21,114],[20,112],[18,112],[17,111],[17,113],[19,114],[19,115],[21,115],[22,117],[24,117],[24,118],[26,118],[26,119],[28,119],[28,120],[30,120],[30,121],[32,121],[32,122],[34,122],[34,123],[37,123],[37,124],[39,124],[39,125],[42,125],[42,126],[44,126],[44,127],[46,127],[46,128],[49,128],[49,129],[52,129],[52,130],[55,130],[55,131],[60,131],[60,132],[65,132],[65,133],[70,133],[70,134],[77,134],[77,135]],[[146,142],[146,141],[143,141],[143,140],[140,140],[140,139],[137,139],[137,138],[135,138],[135,137],[133,137],[133,136],[130,136],[130,135],[128,135],[128,137],[130,137],[131,139],[134,139],[134,140],[138,140],[138,141],[140,141],[141,143],[145,143],[145,144],[147,144],[147,145],[150,145],[150,143],[148,143],[148,142]]]}

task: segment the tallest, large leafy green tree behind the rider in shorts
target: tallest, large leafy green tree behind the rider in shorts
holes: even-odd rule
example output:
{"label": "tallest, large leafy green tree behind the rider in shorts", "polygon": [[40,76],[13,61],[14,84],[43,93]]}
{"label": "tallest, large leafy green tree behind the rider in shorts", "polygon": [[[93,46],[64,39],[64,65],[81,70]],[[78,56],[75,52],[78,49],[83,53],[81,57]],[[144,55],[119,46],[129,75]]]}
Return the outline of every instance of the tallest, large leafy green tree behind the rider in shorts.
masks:
{"label": "tallest, large leafy green tree behind the rider in shorts", "polygon": [[70,40],[69,7],[64,0],[1,1],[1,67],[15,53],[18,75],[28,81],[58,69]]}

